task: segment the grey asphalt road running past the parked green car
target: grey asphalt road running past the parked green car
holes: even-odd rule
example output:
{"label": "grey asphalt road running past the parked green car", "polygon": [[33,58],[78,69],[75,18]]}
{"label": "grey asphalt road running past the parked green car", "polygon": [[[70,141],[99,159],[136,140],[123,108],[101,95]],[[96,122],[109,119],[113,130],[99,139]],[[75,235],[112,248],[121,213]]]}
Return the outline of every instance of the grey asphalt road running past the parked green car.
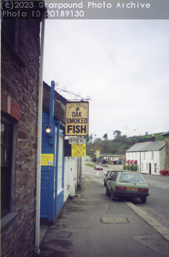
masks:
{"label": "grey asphalt road running past the parked green car", "polygon": [[[104,185],[104,174],[110,169],[122,170],[123,165],[109,165],[109,167],[103,167],[103,171],[96,171],[94,168],[85,165],[84,172],[85,175],[93,177],[102,186]],[[150,195],[147,197],[145,204],[142,204],[139,198],[133,198],[131,202],[169,229],[169,177],[144,174],[142,176],[149,185]]]}

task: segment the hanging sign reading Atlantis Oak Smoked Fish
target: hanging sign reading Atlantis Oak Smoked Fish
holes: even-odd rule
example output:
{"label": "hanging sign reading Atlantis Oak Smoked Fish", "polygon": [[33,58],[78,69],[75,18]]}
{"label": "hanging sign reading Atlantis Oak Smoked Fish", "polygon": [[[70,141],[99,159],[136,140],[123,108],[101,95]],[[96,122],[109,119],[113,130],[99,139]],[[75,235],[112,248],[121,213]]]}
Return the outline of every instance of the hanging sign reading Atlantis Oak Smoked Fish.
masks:
{"label": "hanging sign reading Atlantis Oak Smoked Fish", "polygon": [[88,136],[89,102],[66,103],[66,136]]}

